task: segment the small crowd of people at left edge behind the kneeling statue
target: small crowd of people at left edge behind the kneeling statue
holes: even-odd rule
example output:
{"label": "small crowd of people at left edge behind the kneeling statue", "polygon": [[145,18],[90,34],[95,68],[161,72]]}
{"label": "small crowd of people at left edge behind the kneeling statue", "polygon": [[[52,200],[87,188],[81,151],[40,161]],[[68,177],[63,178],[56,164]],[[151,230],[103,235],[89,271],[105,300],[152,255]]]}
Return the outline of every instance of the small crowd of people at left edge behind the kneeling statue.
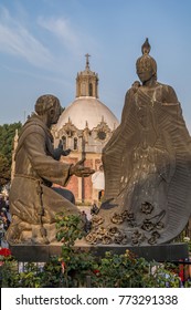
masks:
{"label": "small crowd of people at left edge behind the kneeling statue", "polygon": [[11,223],[11,215],[9,211],[9,197],[4,197],[0,194],[0,247],[8,248],[9,245],[6,241],[4,235]]}

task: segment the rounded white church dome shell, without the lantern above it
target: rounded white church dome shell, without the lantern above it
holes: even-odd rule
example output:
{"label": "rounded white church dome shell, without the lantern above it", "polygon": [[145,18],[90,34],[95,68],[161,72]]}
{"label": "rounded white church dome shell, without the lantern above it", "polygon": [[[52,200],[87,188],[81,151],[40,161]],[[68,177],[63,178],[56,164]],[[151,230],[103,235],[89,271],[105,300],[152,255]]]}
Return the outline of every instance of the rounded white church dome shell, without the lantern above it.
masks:
{"label": "rounded white church dome shell, without the lantern above it", "polygon": [[113,112],[99,100],[92,96],[77,97],[68,105],[59,118],[56,124],[57,131],[60,131],[68,120],[71,120],[78,130],[84,130],[86,124],[88,124],[89,130],[93,130],[102,121],[104,121],[112,131],[119,125]]}

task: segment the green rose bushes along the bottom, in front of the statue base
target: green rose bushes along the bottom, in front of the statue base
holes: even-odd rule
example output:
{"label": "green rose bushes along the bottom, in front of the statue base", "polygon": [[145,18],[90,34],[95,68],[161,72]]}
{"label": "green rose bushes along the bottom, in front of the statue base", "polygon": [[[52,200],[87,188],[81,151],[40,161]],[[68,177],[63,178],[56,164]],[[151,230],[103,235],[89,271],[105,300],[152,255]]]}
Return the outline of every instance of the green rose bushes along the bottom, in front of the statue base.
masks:
{"label": "green rose bushes along the bottom, in front of the statue base", "polygon": [[[1,268],[2,287],[23,288],[178,288],[177,267],[169,264],[148,262],[131,251],[117,255],[107,251],[104,257],[93,251],[75,247],[82,238],[79,216],[60,214],[56,217],[57,239],[62,240],[62,255],[51,257],[43,269],[36,264],[26,264],[22,272],[15,268],[17,261],[10,256],[3,259]],[[89,279],[89,278],[88,278]],[[190,282],[187,287],[190,287]]]}

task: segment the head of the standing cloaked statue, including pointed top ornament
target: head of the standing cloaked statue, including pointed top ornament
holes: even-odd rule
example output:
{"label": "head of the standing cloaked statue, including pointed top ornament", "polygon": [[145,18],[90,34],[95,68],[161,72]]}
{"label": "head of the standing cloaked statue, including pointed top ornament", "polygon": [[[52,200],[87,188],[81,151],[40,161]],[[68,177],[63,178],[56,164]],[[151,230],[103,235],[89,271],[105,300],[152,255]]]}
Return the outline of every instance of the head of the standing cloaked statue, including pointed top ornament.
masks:
{"label": "head of the standing cloaked statue, including pointed top ornament", "polygon": [[141,46],[142,56],[136,62],[137,75],[142,83],[147,82],[151,78],[157,80],[157,63],[155,59],[149,55],[150,44],[148,38]]}

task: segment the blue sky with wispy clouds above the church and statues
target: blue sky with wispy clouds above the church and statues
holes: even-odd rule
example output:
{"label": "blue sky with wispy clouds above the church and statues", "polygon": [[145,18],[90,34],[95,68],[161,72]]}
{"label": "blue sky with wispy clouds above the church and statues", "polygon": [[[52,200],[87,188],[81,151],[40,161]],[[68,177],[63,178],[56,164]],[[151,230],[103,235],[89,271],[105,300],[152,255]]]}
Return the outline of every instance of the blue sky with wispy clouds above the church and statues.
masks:
{"label": "blue sky with wispy clouds above the church and statues", "polygon": [[190,0],[0,0],[0,124],[23,122],[41,94],[67,106],[86,53],[99,100],[120,120],[147,37],[191,131]]}

